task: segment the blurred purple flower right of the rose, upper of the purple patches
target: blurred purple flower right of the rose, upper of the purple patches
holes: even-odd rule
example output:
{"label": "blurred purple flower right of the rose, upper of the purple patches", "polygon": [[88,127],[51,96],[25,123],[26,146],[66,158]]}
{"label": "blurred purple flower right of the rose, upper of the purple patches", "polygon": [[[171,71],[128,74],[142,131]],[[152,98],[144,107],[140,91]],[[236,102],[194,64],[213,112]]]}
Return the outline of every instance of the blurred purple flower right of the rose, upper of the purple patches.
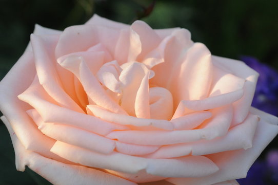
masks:
{"label": "blurred purple flower right of the rose, upper of the purple patches", "polygon": [[260,73],[252,106],[278,116],[278,73],[253,57],[243,56],[241,60]]}

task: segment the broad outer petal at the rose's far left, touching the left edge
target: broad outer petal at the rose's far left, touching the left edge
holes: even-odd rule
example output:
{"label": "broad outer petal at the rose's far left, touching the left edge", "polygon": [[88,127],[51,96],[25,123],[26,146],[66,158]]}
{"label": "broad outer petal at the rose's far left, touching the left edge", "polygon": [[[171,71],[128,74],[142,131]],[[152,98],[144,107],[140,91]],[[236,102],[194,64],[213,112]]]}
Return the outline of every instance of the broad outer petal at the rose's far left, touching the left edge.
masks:
{"label": "broad outer petal at the rose's far left, touching the left edge", "polygon": [[30,105],[17,98],[31,84],[34,76],[32,52],[26,51],[0,83],[0,109],[25,149],[58,159],[49,152],[54,141],[38,132],[26,114]]}

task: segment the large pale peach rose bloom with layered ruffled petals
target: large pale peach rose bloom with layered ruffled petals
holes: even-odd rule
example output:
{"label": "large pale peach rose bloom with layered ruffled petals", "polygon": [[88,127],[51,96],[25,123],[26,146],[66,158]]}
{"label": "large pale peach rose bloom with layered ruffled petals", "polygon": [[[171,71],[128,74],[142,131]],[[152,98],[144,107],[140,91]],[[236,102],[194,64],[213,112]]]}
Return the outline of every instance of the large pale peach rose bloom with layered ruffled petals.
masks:
{"label": "large pale peach rose bloom with layered ruffled petals", "polygon": [[37,25],[0,106],[17,170],[53,184],[237,184],[278,133],[250,106],[257,77],[186,29],[94,15]]}

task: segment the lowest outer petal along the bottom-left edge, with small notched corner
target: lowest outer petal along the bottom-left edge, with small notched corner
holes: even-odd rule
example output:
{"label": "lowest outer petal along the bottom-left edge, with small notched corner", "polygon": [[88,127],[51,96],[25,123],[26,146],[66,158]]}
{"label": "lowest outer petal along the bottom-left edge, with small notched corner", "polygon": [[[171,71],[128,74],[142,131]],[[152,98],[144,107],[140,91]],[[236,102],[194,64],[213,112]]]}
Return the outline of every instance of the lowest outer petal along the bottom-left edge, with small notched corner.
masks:
{"label": "lowest outer petal along the bottom-left edge, with small notched corner", "polygon": [[16,167],[19,171],[25,170],[25,165],[38,173],[55,185],[68,184],[103,184],[103,185],[135,185],[135,183],[95,170],[78,165],[65,164],[49,158],[43,157],[35,152],[24,149],[24,146],[13,134],[13,130],[4,117],[2,120],[6,124],[11,135],[12,143],[15,150]]}

